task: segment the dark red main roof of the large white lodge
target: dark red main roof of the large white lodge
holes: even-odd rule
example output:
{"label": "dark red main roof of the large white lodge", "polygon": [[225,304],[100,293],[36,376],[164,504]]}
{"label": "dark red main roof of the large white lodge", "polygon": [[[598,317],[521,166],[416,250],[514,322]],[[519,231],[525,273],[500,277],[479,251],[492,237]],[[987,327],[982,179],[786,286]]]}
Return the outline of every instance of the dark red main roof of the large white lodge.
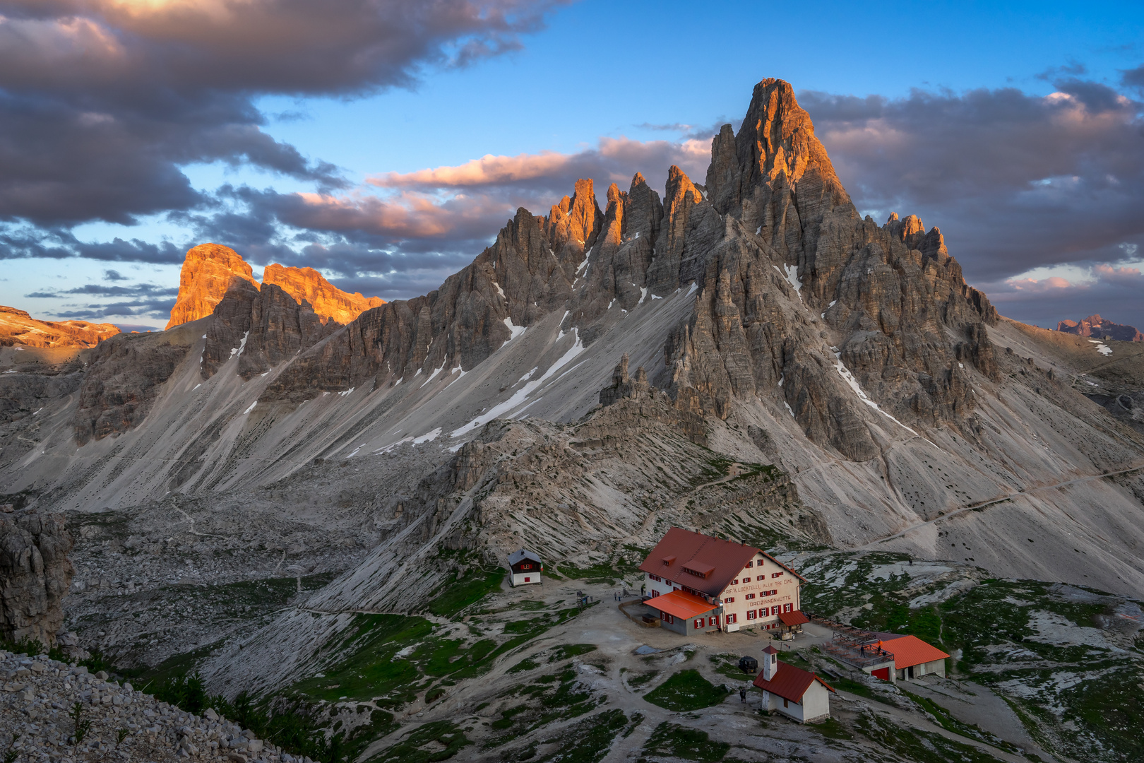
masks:
{"label": "dark red main roof of the large white lodge", "polygon": [[708,596],[718,596],[755,554],[762,554],[805,582],[805,578],[762,549],[681,527],[667,531],[639,565],[639,570],[674,580]]}

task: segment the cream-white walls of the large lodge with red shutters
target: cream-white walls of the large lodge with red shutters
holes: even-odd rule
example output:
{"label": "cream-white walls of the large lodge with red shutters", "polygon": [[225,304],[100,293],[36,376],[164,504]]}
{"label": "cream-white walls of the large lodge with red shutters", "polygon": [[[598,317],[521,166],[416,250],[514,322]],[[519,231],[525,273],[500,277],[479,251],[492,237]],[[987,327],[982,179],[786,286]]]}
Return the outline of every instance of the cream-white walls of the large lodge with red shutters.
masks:
{"label": "cream-white walls of the large lodge with red shutters", "polygon": [[[691,575],[686,575],[691,578]],[[694,578],[691,578],[694,582]],[[686,580],[669,580],[645,573],[649,596],[662,596],[681,588],[693,590]],[[777,628],[780,612],[801,609],[797,575],[758,553],[716,597],[723,605],[722,625],[729,631]],[[649,602],[649,604],[654,604]]]}

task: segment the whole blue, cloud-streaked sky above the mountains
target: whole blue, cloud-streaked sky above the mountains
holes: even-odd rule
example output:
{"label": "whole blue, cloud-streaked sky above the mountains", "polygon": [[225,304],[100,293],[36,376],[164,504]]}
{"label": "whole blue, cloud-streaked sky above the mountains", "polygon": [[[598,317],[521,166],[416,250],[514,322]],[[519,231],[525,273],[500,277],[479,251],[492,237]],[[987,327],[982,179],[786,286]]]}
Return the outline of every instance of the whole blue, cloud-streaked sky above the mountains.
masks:
{"label": "whole blue, cloud-streaked sky above the mountains", "polygon": [[[713,128],[737,125],[754,84],[778,77],[794,85],[859,208],[917,213],[939,225],[967,279],[1003,315],[1051,326],[1101,311],[1144,325],[1144,230],[1133,220],[1144,207],[1144,138],[1131,137],[1141,134],[1144,100],[1144,74],[1133,74],[1144,64],[1138,2],[586,1],[545,10],[490,1],[474,3],[486,6],[483,15],[456,22],[448,13],[455,3],[443,0],[399,30],[414,42],[408,49],[387,48],[367,71],[342,65],[333,48],[317,49],[309,70],[291,70],[291,57],[307,50],[288,35],[241,55],[220,48],[225,40],[188,38],[204,53],[235,56],[229,70],[207,72],[164,57],[162,43],[182,31],[159,22],[181,2],[149,11],[158,15],[145,27],[153,46],[135,42],[142,47],[127,64],[106,64],[116,81],[125,74],[113,65],[137,67],[127,71],[130,87],[117,89],[110,74],[65,85],[77,80],[66,56],[45,51],[89,42],[32,37],[35,24],[42,32],[65,17],[0,0],[0,88],[8,96],[0,108],[31,125],[0,135],[8,149],[0,170],[16,162],[17,174],[29,175],[0,188],[0,303],[46,318],[161,327],[182,252],[202,240],[233,246],[256,270],[271,261],[310,264],[350,291],[415,296],[475,256],[516,205],[543,213],[571,191],[574,174],[594,173],[599,198],[606,182],[635,170],[661,188],[673,161],[701,181]],[[90,5],[93,35],[137,40],[137,15],[101,9],[111,0]],[[355,6],[328,3],[325,30],[351,54],[370,45],[357,34],[363,11]],[[407,9],[400,0],[382,7]],[[391,26],[373,22],[375,37]],[[232,25],[241,23],[257,37],[257,18]],[[312,23],[297,19],[300,30]],[[5,49],[27,58],[21,46],[29,45],[58,79],[2,73]],[[464,65],[450,61],[458,51],[468,51]],[[268,66],[286,73],[276,79]],[[90,69],[98,73],[98,64]],[[185,102],[168,109],[152,90]],[[1071,110],[1047,100],[1055,93],[1071,98]],[[74,114],[87,132],[59,140],[69,150],[90,140],[90,151],[77,151],[66,169],[53,167],[62,151],[30,141],[50,130],[32,132],[27,114],[53,124]],[[112,124],[128,127],[105,135]],[[221,124],[225,134],[215,129]],[[109,175],[101,161],[124,142]],[[37,151],[43,162],[16,156]],[[551,166],[527,182],[476,189],[411,176],[486,154],[547,157]],[[140,156],[158,158],[135,168]],[[124,167],[129,172],[116,175]],[[89,184],[90,198],[72,202],[53,191],[27,202],[21,194],[38,172],[65,180],[80,173],[73,185]],[[397,175],[379,185],[387,173]],[[104,177],[118,190],[101,193]],[[316,192],[336,201],[337,220],[321,214],[331,206],[316,207],[317,197],[295,196]],[[34,256],[42,254],[51,256]]]}

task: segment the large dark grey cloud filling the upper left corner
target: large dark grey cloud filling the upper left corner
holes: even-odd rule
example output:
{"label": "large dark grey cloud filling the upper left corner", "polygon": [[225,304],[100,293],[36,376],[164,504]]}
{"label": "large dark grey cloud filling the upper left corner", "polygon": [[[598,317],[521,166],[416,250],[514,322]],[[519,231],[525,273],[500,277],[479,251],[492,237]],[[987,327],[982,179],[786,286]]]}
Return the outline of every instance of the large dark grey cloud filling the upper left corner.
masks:
{"label": "large dark grey cloud filling the upper left corner", "polygon": [[[180,169],[344,186],[254,98],[352,97],[519,47],[553,2],[0,0],[0,221],[69,228],[208,207]],[[8,256],[11,256],[10,253]]]}

